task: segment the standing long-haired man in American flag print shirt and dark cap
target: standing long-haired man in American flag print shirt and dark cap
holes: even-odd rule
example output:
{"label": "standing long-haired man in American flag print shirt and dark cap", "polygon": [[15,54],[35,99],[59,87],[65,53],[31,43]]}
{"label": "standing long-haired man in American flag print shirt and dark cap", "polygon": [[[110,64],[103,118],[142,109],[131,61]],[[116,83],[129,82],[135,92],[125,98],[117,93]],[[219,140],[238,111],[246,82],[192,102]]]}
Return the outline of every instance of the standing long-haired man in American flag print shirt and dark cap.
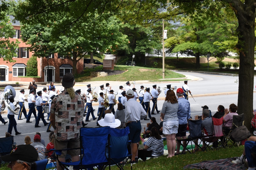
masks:
{"label": "standing long-haired man in American flag print shirt and dark cap", "polygon": [[[84,99],[74,91],[74,76],[67,73],[63,76],[64,91],[51,102],[50,121],[54,127],[55,149],[79,148],[79,130],[82,125]],[[62,151],[59,160],[65,162],[66,154],[71,155],[72,162],[79,161],[79,150]],[[57,170],[61,167],[57,163]]]}

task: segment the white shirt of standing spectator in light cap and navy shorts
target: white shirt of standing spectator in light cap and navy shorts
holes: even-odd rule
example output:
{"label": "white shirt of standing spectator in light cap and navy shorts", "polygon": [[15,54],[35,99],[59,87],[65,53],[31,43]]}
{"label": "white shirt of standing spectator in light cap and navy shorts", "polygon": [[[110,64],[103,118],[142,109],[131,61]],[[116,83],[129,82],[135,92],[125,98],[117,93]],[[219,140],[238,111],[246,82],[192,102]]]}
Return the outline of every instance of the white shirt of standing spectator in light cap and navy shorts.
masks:
{"label": "white shirt of standing spectator in light cap and navy shorts", "polygon": [[129,99],[125,103],[124,113],[125,113],[125,120],[124,120],[125,122],[142,120],[147,116],[147,113],[143,109],[142,105],[133,99]]}

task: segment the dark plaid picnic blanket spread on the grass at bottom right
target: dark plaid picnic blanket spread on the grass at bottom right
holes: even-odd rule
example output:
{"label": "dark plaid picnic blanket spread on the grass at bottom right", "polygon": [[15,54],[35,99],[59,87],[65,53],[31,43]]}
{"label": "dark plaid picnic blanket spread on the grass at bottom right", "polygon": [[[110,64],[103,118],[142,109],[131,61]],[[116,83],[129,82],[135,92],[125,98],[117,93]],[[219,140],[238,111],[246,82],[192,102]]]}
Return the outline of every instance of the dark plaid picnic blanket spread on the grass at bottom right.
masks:
{"label": "dark plaid picnic blanket spread on the grass at bottom right", "polygon": [[183,169],[217,169],[217,170],[242,170],[242,164],[233,164],[231,161],[236,160],[235,158],[226,158],[213,161],[202,161],[200,163],[189,164],[183,167]]}

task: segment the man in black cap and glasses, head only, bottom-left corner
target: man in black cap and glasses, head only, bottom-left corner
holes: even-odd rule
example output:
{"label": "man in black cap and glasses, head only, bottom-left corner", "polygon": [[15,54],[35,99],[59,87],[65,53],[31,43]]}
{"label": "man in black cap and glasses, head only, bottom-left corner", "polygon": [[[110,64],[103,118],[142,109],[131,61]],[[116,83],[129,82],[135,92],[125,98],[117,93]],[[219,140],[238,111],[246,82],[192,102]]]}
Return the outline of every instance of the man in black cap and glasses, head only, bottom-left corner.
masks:
{"label": "man in black cap and glasses, head only, bottom-left corner", "polygon": [[12,170],[30,170],[31,163],[39,159],[38,153],[33,146],[18,145],[15,148],[15,152],[11,152],[9,155],[1,156],[1,160],[4,162],[9,162],[7,167],[11,168]]}

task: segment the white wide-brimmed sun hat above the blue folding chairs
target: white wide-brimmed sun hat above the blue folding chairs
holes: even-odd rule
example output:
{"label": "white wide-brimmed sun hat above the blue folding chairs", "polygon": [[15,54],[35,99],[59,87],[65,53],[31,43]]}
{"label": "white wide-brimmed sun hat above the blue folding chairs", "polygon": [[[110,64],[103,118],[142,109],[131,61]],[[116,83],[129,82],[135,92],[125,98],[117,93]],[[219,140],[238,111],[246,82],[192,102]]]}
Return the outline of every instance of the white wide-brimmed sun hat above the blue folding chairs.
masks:
{"label": "white wide-brimmed sun hat above the blue folding chairs", "polygon": [[112,113],[105,114],[104,119],[98,121],[101,126],[109,126],[112,128],[119,127],[121,125],[121,121],[119,119],[115,119],[115,115]]}

